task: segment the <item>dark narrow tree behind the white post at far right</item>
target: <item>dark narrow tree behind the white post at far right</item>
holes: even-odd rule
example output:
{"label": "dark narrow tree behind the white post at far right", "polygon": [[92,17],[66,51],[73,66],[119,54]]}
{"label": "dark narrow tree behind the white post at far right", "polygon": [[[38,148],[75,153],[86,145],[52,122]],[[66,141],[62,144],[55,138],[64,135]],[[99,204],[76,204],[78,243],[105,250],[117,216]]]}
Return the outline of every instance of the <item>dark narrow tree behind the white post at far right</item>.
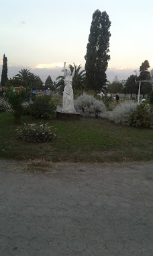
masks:
{"label": "dark narrow tree behind the white post at far right", "polygon": [[[151,80],[150,72],[148,71],[148,68],[150,67],[149,62],[146,60],[142,63],[140,66],[140,75],[138,77],[138,80],[140,81],[148,81]],[[145,94],[149,94],[152,90],[152,83],[150,82],[142,82],[141,83],[141,94],[143,94],[143,97]]]}

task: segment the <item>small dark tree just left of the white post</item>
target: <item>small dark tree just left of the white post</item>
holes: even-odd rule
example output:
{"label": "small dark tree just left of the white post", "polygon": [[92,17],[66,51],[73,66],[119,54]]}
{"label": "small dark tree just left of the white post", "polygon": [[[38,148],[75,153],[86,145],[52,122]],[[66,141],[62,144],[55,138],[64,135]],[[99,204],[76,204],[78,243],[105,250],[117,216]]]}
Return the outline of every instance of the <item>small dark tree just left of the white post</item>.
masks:
{"label": "small dark tree just left of the white post", "polygon": [[125,94],[138,94],[138,83],[136,83],[137,75],[130,75],[125,82],[125,86],[123,88],[123,92]]}

